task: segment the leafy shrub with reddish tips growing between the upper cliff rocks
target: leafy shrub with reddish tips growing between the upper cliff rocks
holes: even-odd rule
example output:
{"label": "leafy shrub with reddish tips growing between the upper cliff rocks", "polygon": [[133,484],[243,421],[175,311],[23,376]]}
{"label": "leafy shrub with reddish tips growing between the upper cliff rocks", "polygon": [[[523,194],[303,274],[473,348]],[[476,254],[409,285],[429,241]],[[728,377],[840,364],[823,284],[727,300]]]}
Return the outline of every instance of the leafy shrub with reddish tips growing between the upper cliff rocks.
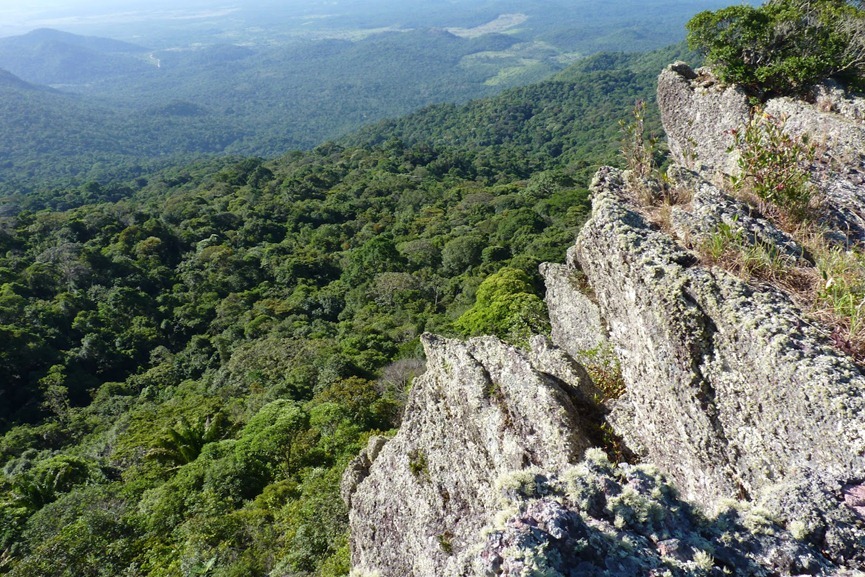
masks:
{"label": "leafy shrub with reddish tips growing between the upper cliff rocks", "polygon": [[785,124],[786,118],[757,109],[744,128],[733,132],[740,174],[732,178],[732,184],[737,191],[756,195],[762,212],[777,207],[802,221],[815,200],[806,168],[814,160],[815,147],[807,138],[786,133]]}

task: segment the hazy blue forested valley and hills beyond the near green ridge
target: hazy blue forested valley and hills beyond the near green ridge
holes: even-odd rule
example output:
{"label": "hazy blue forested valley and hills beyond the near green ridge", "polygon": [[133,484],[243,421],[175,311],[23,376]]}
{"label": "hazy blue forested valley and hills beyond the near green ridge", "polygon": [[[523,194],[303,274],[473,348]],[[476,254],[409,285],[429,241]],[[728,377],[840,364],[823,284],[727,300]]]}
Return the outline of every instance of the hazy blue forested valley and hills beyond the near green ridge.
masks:
{"label": "hazy blue forested valley and hills beyond the near green ridge", "polygon": [[258,6],[167,37],[139,24],[114,32],[127,41],[52,29],[0,38],[0,195],[308,150],[423,106],[547,79],[600,50],[670,44],[688,14],[722,3],[316,3],[305,10],[334,13]]}

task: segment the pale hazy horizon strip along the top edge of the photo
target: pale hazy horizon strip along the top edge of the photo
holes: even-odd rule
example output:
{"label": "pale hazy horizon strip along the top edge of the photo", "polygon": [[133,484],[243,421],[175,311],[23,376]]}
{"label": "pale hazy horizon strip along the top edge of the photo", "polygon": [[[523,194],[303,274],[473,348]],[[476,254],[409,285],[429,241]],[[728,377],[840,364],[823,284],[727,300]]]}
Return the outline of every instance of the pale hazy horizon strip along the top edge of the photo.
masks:
{"label": "pale hazy horizon strip along the top edge of the photo", "polygon": [[0,0],[0,37],[53,28],[126,41],[147,38],[156,44],[187,37],[197,41],[249,36],[257,30],[270,32],[266,36],[272,39],[274,35],[308,36],[328,30],[480,25],[513,12],[541,18],[556,13],[568,21],[574,14],[589,11],[591,17],[612,16],[632,26],[651,26],[666,12],[684,9],[693,14],[724,4],[723,0],[673,1],[659,13],[657,3],[651,9],[633,0],[575,0],[566,6],[556,0],[32,0],[26,5]]}

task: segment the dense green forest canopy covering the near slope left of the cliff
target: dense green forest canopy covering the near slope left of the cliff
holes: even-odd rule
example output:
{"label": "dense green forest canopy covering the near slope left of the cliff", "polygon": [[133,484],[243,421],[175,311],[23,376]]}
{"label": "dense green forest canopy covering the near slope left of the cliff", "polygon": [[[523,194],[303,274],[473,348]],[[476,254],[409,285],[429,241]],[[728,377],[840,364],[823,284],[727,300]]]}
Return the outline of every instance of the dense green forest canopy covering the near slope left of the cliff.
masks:
{"label": "dense green forest canopy covering the near slope left of the cliff", "polygon": [[345,575],[339,479],[398,427],[419,335],[545,330],[537,266],[673,56],[8,199],[0,573]]}

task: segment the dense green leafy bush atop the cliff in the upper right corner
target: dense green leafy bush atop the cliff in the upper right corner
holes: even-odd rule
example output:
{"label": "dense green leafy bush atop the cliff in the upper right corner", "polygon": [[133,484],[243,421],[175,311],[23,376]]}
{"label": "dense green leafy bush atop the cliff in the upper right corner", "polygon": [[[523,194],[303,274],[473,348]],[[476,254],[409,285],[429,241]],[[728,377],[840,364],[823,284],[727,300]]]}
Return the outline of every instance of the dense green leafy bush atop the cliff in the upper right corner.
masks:
{"label": "dense green leafy bush atop the cliff in the upper right corner", "polygon": [[720,80],[757,96],[801,94],[830,77],[865,89],[861,1],[769,0],[701,12],[687,28]]}

